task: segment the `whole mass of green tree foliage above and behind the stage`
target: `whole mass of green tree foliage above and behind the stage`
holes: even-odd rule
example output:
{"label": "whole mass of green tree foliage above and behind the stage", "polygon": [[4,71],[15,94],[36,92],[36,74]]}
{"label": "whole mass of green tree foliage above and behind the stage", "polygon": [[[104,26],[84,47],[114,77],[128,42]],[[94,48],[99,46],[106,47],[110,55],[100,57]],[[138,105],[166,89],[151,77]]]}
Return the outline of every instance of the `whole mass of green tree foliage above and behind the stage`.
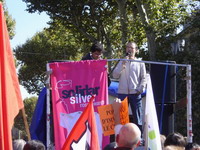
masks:
{"label": "whole mass of green tree foliage above and behind the stage", "polygon": [[140,54],[146,59],[151,54],[154,59],[154,52],[163,53],[163,40],[174,34],[185,16],[185,9],[177,0],[23,1],[30,13],[46,12],[51,18],[48,30],[15,49],[21,65],[20,82],[29,93],[38,93],[44,86],[48,61],[78,60],[96,40],[104,44],[106,58],[122,57],[125,42],[135,41],[139,47],[147,42],[153,54],[146,48]]}

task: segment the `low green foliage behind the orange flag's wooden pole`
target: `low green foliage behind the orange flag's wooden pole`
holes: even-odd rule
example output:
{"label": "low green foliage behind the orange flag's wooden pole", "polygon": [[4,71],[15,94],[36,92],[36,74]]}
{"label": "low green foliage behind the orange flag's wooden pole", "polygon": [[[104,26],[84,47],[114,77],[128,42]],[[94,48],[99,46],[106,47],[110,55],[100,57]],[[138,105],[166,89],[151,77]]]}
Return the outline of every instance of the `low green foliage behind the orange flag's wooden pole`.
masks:
{"label": "low green foliage behind the orange flag's wooden pole", "polygon": [[[26,113],[26,118],[27,118],[27,122],[28,122],[28,126],[30,127],[31,124],[31,120],[32,120],[32,116],[35,110],[35,106],[37,103],[37,97],[30,97],[30,98],[25,98],[24,99],[24,109],[25,109],[25,113]],[[15,121],[14,121],[14,127],[16,127],[17,129],[22,131],[22,135],[26,137],[26,130],[25,130],[25,125],[24,125],[24,120],[22,117],[22,113],[20,111],[20,113],[15,117]]]}

